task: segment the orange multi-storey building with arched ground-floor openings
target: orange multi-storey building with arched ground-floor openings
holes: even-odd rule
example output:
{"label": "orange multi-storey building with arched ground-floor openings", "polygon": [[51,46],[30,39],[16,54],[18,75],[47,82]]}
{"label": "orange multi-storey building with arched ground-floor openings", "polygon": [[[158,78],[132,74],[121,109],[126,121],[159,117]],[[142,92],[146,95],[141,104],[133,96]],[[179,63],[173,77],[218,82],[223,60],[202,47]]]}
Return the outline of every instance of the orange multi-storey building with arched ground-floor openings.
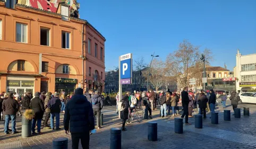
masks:
{"label": "orange multi-storey building with arched ground-floor openings", "polygon": [[104,90],[106,39],[71,17],[69,4],[50,12],[6,2],[0,0],[1,92]]}

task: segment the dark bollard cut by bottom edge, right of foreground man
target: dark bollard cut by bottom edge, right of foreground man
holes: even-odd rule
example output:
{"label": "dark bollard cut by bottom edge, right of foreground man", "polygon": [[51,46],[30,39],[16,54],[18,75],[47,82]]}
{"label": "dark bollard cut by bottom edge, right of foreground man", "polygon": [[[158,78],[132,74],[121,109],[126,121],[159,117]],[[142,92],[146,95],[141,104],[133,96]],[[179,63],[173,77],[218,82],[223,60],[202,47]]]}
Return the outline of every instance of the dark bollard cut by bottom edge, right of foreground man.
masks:
{"label": "dark bollard cut by bottom edge, right of foreground man", "polygon": [[110,149],[121,149],[122,129],[110,129]]}

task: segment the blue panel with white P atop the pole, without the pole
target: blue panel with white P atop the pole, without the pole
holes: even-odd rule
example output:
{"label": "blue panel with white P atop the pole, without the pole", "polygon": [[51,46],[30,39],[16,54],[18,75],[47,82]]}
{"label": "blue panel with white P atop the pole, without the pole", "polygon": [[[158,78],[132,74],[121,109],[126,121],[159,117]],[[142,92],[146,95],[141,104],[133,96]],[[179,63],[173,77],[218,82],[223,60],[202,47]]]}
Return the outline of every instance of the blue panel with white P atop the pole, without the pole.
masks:
{"label": "blue panel with white P atop the pole, without the pole", "polygon": [[132,83],[132,54],[120,56],[120,79],[121,84]]}

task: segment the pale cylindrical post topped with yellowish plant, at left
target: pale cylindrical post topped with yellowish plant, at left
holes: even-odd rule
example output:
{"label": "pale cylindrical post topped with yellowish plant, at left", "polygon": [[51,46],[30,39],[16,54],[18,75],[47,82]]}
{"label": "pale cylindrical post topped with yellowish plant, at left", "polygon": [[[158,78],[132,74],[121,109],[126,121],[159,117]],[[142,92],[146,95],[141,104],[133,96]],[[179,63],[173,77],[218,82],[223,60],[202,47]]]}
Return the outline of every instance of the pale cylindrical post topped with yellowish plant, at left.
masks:
{"label": "pale cylindrical post topped with yellowish plant, at left", "polygon": [[27,109],[22,115],[21,120],[21,136],[30,137],[32,135],[32,119],[35,117],[35,112],[32,109]]}

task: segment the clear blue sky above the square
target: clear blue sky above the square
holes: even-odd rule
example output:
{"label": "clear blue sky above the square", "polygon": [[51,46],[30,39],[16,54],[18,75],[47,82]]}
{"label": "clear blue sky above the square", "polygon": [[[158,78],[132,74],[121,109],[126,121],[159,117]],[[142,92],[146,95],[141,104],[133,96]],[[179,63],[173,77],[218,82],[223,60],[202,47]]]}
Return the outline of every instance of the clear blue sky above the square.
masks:
{"label": "clear blue sky above the square", "polygon": [[132,53],[150,63],[151,54],[165,60],[184,39],[208,48],[212,66],[233,71],[237,49],[256,53],[255,0],[78,0],[80,17],[106,38],[106,71],[118,57]]}

